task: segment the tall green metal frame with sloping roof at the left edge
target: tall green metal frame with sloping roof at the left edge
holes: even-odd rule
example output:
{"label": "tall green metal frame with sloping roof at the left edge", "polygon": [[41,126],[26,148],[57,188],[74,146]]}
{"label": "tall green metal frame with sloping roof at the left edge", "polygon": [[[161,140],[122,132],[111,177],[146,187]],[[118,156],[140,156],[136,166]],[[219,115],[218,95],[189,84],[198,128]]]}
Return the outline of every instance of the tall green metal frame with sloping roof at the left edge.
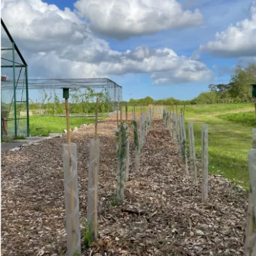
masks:
{"label": "tall green metal frame with sloping roof at the left edge", "polygon": [[[7,121],[14,121],[14,135],[15,137],[17,137],[18,134],[18,124],[19,124],[19,120],[21,119],[26,119],[26,134],[27,136],[29,136],[29,95],[28,95],[28,65],[26,63],[26,61],[24,60],[22,54],[19,51],[19,48],[17,47],[17,45],[15,44],[12,35],[10,34],[10,32],[8,31],[6,25],[3,22],[3,19],[1,19],[0,17],[0,29],[3,30],[3,34],[5,33],[6,35],[6,42],[8,40],[10,40],[7,45],[10,44],[10,47],[3,47],[4,44],[4,40],[3,40],[3,44],[1,45],[1,40],[0,40],[0,61],[3,61],[4,63],[0,63],[0,72],[1,72],[1,68],[12,68],[12,83],[13,83],[13,97],[12,97],[12,102],[10,103],[10,108],[12,107],[13,104],[13,118],[7,118]],[[1,39],[1,38],[0,38]],[[8,54],[10,52],[10,58],[3,58],[3,54],[1,55],[1,52]],[[20,62],[17,62],[15,60],[15,56],[17,56],[17,58],[19,57],[19,59],[21,60]],[[8,65],[10,63],[10,65]],[[20,72],[19,72],[19,76],[18,73],[16,74],[16,68],[20,68]],[[22,68],[25,69],[24,72],[24,85],[25,85],[25,90],[26,90],[26,100],[22,100],[22,97],[20,100],[17,100],[17,94],[16,94],[16,90],[17,90],[17,85],[19,84],[19,79],[20,79],[20,74],[21,74],[21,70]],[[1,74],[0,74],[1,75]],[[16,77],[17,76],[17,77]],[[0,138],[3,138],[3,127],[2,127],[2,100],[1,100],[1,92],[2,92],[2,86],[1,86],[1,81],[0,81]],[[23,91],[22,91],[22,95],[23,95]],[[26,118],[20,118],[17,117],[17,104],[26,104]],[[10,112],[10,110],[9,110]]]}

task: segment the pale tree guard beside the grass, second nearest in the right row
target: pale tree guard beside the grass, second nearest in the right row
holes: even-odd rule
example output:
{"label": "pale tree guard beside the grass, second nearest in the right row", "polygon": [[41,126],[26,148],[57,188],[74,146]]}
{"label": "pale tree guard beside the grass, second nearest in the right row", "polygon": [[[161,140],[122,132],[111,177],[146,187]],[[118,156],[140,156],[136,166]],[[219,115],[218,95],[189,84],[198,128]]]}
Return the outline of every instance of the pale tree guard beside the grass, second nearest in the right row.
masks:
{"label": "pale tree guard beside the grass, second nearest in the right row", "polygon": [[208,125],[202,125],[202,202],[208,198]]}

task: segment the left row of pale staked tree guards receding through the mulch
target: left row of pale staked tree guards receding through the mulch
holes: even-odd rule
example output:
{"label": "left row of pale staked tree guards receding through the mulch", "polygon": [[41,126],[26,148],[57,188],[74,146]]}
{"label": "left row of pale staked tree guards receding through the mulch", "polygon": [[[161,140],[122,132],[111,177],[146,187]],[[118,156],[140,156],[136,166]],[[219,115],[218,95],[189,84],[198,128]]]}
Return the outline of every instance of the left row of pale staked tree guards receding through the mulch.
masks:
{"label": "left row of pale staked tree guards receding through the mulch", "polygon": [[[77,146],[71,143],[69,107],[68,107],[68,88],[63,89],[65,99],[66,118],[67,118],[67,144],[63,145],[63,171],[65,188],[65,216],[67,231],[67,255],[81,255],[81,232],[79,221],[79,196],[77,182]],[[86,233],[93,241],[98,237],[98,179],[100,164],[100,140],[97,135],[99,100],[96,102],[95,113],[95,138],[90,140],[90,156],[88,169],[88,202]],[[141,109],[140,130],[136,120],[136,109],[132,114],[132,122],[128,122],[127,105],[125,106],[125,120],[122,119],[122,103],[120,111],[116,113],[117,128],[115,129],[116,156],[117,156],[117,186],[116,204],[124,202],[125,182],[129,180],[130,147],[129,135],[133,132],[135,145],[136,168],[140,166],[141,148],[145,143],[145,137],[150,129],[153,119],[152,108]],[[140,132],[140,133],[139,133]]]}

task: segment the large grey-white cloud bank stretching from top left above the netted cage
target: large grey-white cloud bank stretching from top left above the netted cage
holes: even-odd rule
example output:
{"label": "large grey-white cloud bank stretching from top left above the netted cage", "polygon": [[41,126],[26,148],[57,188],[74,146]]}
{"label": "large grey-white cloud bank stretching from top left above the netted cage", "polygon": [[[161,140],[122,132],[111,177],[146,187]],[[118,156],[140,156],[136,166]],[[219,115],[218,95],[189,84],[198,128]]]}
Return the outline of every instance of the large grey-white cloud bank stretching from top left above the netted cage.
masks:
{"label": "large grey-white cloud bank stretching from top left above the netted cage", "polygon": [[197,56],[178,56],[172,49],[139,46],[134,51],[114,51],[68,8],[61,11],[40,0],[3,1],[0,16],[17,39],[30,77],[148,74],[154,84],[201,82],[212,77]]}

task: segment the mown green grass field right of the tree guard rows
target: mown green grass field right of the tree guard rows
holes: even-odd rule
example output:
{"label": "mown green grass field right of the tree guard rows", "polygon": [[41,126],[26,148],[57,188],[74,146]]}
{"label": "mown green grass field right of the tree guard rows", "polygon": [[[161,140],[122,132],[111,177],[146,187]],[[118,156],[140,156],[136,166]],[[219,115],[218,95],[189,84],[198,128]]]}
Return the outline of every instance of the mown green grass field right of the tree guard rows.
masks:
{"label": "mown green grass field right of the tree guard rows", "polygon": [[186,124],[194,123],[197,157],[201,156],[202,124],[209,125],[209,172],[248,189],[247,154],[252,147],[252,126],[256,125],[253,104],[228,104],[228,108],[225,105],[188,106]]}

